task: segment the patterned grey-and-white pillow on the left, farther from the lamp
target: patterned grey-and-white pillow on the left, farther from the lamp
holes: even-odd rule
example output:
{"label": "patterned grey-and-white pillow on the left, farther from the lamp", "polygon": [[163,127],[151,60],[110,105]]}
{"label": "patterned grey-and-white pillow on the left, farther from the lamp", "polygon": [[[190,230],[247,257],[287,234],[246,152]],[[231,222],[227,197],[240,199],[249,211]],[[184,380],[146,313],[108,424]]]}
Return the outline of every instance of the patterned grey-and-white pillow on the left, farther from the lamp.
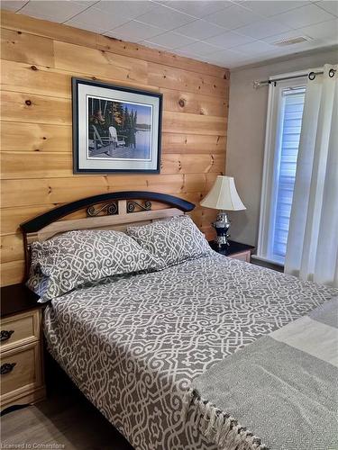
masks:
{"label": "patterned grey-and-white pillow on the left, farther from the lamp", "polygon": [[72,289],[107,276],[156,269],[159,261],[121,231],[69,231],[32,243],[27,286],[51,300]]}

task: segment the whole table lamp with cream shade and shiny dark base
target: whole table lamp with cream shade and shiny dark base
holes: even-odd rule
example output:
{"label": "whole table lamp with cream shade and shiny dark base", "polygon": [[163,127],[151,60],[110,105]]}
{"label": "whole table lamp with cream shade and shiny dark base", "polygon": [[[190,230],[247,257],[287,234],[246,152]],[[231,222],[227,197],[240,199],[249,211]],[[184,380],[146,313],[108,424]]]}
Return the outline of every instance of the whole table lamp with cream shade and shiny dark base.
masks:
{"label": "whole table lamp with cream shade and shiny dark base", "polygon": [[226,211],[246,210],[236,191],[233,176],[218,175],[215,184],[200,204],[206,208],[220,210],[213,223],[217,234],[216,243],[218,247],[228,246],[230,220]]}

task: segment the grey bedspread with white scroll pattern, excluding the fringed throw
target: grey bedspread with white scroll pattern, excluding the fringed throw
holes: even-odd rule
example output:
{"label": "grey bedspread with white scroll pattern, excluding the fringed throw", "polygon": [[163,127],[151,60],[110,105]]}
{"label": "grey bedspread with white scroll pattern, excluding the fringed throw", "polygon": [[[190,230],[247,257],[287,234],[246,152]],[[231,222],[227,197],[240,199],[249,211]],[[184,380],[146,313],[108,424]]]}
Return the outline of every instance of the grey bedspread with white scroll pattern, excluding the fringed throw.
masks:
{"label": "grey bedspread with white scroll pattern, excluding the fringed throw", "polygon": [[[135,449],[215,450],[189,398],[196,377],[337,294],[213,253],[63,295],[44,331],[51,355]],[[252,437],[245,448],[263,446]]]}

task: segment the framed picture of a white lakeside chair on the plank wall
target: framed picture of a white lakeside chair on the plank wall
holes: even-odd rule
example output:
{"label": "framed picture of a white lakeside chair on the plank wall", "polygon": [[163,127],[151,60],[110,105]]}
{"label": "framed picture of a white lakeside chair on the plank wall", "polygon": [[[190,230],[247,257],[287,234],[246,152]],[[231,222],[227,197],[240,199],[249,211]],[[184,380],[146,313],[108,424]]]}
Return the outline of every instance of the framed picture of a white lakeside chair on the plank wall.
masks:
{"label": "framed picture of a white lakeside chair on the plank wall", "polygon": [[72,78],[74,173],[160,173],[162,95]]}

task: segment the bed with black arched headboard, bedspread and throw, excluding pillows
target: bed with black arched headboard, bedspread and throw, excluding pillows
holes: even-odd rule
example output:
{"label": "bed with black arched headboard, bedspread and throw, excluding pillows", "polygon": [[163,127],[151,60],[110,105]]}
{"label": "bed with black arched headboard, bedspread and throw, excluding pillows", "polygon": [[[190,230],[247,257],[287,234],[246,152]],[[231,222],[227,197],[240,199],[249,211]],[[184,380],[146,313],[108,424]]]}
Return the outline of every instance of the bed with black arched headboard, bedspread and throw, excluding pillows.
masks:
{"label": "bed with black arched headboard, bedspread and throw, excluding pillows", "polygon": [[[151,211],[151,202],[162,208]],[[60,220],[84,207],[94,217]],[[109,193],[73,202],[23,224],[27,258],[32,242],[70,229],[123,230],[193,208],[160,193]],[[102,211],[110,214],[100,216]],[[310,320],[320,332],[328,327],[316,341],[331,347],[336,295],[334,288],[210,251],[160,271],[108,277],[52,299],[44,332],[51,356],[135,449],[328,450],[338,448],[334,355],[322,360],[325,351],[318,349],[307,360],[305,348],[294,350],[287,340]],[[310,338],[316,332],[311,329]],[[281,357],[271,357],[291,348],[290,361],[295,356],[296,362],[288,367],[288,379],[285,372],[274,372]],[[300,384],[299,368],[292,374],[298,361],[307,377]],[[268,373],[269,389],[262,391]],[[280,389],[270,387],[271,379]],[[302,414],[292,413],[299,404],[304,410],[309,404],[300,422]]]}

